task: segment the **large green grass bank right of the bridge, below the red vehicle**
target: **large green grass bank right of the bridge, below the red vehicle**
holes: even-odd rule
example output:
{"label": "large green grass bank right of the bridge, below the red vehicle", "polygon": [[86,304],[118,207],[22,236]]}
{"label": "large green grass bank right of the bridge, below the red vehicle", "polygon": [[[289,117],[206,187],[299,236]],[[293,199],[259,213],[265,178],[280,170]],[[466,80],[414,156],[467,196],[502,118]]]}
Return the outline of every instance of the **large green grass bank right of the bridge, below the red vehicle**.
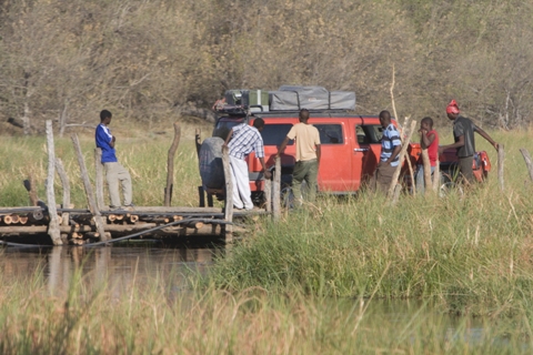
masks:
{"label": "large green grass bank right of the bridge, below the red vehicle", "polygon": [[503,192],[490,151],[490,180],[463,197],[403,195],[395,206],[365,192],[324,197],[281,223],[265,221],[210,277],[234,291],[348,297],[375,291],[439,300],[463,314],[520,312],[533,296],[532,186],[517,150],[531,132],[494,135],[507,152]]}

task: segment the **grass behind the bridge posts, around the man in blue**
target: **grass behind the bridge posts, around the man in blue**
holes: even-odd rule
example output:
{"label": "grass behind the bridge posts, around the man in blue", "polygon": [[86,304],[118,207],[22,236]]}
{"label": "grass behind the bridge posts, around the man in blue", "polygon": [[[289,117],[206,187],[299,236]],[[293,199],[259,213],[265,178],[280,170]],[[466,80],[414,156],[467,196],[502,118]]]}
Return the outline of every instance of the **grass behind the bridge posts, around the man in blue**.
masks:
{"label": "grass behind the bridge posts, around the man in blue", "polygon": [[[167,186],[167,158],[172,143],[172,123],[158,126],[152,131],[142,128],[121,128],[120,121],[113,122],[112,133],[118,136],[117,155],[133,181],[133,203],[137,205],[162,205]],[[211,134],[212,125],[195,122],[202,129],[203,138]],[[94,183],[94,132],[84,130],[78,133],[82,145],[91,181]],[[174,205],[198,205],[197,186],[201,184],[198,158],[194,148],[194,126],[182,125],[180,145],[175,154]],[[87,199],[80,179],[80,168],[70,136],[54,139],[56,156],[64,164],[71,186],[71,200],[77,207],[87,206]],[[48,169],[47,141],[43,136],[2,136],[0,154],[0,205],[24,206],[29,204],[28,193],[22,181],[30,174],[37,184],[40,199],[46,200],[46,179]],[[62,186],[59,176],[54,179],[56,201],[61,203]],[[104,193],[109,202],[108,193]]]}

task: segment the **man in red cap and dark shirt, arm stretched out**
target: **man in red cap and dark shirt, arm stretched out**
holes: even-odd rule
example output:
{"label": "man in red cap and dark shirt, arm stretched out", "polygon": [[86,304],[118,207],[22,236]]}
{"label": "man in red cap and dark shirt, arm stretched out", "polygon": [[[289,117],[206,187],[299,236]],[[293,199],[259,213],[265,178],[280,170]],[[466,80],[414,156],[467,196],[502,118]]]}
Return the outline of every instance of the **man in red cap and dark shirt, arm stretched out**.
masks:
{"label": "man in red cap and dark shirt, arm stretched out", "polygon": [[457,103],[455,100],[452,100],[446,108],[446,114],[447,118],[453,121],[453,139],[455,143],[440,146],[439,154],[445,149],[455,148],[457,150],[461,174],[469,182],[473,182],[474,172],[472,165],[475,153],[474,132],[487,140],[496,151],[499,145],[485,131],[475,125],[470,119],[460,115],[459,112]]}

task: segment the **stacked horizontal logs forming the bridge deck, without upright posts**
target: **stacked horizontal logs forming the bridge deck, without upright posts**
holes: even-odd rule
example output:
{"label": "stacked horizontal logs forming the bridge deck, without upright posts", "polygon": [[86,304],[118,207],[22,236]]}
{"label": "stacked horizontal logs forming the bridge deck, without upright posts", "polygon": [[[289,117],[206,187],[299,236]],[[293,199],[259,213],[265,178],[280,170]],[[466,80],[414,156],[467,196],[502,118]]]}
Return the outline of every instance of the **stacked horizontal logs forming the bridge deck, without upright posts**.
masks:
{"label": "stacked horizontal logs forming the bridge deck, without upright posts", "polygon": [[[0,207],[0,236],[19,237],[42,235],[42,241],[50,240],[48,233],[50,219],[48,211],[40,206],[28,207]],[[90,210],[84,209],[57,209],[58,219],[63,214],[69,215],[68,224],[60,224],[59,232],[63,242],[73,245],[90,244],[101,241],[94,217]],[[105,224],[104,239],[123,237],[133,233],[147,232],[141,237],[180,240],[194,236],[223,237],[224,213],[217,207],[158,207],[140,206],[130,210],[102,211]],[[240,211],[235,219],[254,217],[268,214],[265,211]],[[13,223],[13,220],[17,223]],[[175,224],[175,225],[168,225]],[[157,231],[150,231],[158,229]],[[243,234],[245,230],[234,226],[235,233]],[[39,239],[40,240],[40,239]]]}

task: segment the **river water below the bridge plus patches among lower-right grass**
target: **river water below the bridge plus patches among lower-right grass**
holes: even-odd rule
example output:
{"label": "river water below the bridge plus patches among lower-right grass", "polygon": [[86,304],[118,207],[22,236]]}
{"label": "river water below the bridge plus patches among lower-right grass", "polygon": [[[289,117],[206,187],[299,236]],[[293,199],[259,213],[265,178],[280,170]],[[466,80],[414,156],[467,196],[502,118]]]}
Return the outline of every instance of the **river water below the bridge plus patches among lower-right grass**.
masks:
{"label": "river water below the bridge plus patches among lower-right grass", "polygon": [[[187,286],[187,275],[191,271],[207,273],[217,257],[223,256],[222,248],[169,248],[153,246],[109,246],[76,247],[54,246],[48,248],[8,247],[0,252],[0,272],[7,282],[19,282],[43,276],[51,294],[64,294],[74,278],[81,273],[86,286],[105,283],[119,297],[132,286],[150,285],[153,277],[163,281],[170,292],[181,292]],[[168,284],[168,282],[171,284]],[[361,300],[332,300],[335,307],[350,310]],[[422,310],[422,311],[421,311]],[[486,334],[486,323],[474,317],[454,317],[442,310],[435,310],[422,302],[372,301],[366,311],[366,326],[373,322],[388,320],[392,328],[402,329],[412,323],[439,323],[443,342],[466,342],[473,346],[487,338],[502,351],[509,351],[506,341]],[[375,321],[373,321],[375,320]],[[375,324],[379,328],[381,324]],[[395,336],[394,329],[383,329]],[[491,332],[492,333],[492,332]],[[523,345],[523,344],[522,344]],[[523,353],[524,348],[521,348]]]}

